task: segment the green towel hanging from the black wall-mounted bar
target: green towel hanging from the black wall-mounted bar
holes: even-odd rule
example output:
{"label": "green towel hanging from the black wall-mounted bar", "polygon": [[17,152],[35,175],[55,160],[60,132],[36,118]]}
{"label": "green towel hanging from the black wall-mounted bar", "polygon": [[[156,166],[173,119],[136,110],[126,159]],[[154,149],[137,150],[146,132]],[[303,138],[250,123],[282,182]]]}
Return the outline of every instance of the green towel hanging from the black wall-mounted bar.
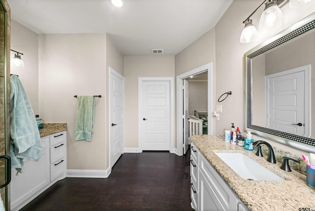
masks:
{"label": "green towel hanging from the black wall-mounted bar", "polygon": [[93,95],[78,95],[75,141],[91,141],[94,133],[95,105]]}

